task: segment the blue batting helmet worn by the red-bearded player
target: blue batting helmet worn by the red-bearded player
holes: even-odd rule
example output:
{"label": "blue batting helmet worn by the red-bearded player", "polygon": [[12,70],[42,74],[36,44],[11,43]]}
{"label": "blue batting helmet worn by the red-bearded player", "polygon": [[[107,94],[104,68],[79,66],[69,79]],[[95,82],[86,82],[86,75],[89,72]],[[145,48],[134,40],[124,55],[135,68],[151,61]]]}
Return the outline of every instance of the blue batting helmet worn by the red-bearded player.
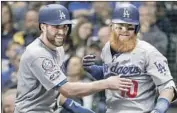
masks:
{"label": "blue batting helmet worn by the red-bearded player", "polygon": [[117,6],[113,12],[112,23],[126,23],[136,25],[135,33],[139,30],[139,11],[136,6],[123,3]]}

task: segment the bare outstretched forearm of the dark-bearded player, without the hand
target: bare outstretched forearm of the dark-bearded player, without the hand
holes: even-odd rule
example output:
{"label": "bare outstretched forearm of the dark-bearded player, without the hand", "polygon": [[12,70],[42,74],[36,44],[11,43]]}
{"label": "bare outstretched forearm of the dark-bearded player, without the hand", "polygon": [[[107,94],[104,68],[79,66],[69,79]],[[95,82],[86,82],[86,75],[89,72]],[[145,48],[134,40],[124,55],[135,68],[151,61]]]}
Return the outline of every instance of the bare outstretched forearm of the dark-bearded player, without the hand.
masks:
{"label": "bare outstretched forearm of the dark-bearded player, without the hand", "polygon": [[92,93],[107,89],[109,86],[106,80],[94,81],[90,83],[66,83],[60,87],[60,92],[66,97],[86,96]]}

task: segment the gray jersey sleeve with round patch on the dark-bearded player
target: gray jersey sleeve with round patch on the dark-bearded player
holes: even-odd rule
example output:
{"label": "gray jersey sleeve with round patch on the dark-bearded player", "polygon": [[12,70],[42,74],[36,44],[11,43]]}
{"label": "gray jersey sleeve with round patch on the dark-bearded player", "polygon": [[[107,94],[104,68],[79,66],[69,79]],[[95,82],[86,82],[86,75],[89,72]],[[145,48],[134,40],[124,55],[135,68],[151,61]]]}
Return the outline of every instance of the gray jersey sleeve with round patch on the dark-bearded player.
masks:
{"label": "gray jersey sleeve with round patch on the dark-bearded player", "polygon": [[66,83],[63,81],[67,81],[61,67],[52,58],[36,58],[32,61],[30,70],[47,90],[61,86]]}

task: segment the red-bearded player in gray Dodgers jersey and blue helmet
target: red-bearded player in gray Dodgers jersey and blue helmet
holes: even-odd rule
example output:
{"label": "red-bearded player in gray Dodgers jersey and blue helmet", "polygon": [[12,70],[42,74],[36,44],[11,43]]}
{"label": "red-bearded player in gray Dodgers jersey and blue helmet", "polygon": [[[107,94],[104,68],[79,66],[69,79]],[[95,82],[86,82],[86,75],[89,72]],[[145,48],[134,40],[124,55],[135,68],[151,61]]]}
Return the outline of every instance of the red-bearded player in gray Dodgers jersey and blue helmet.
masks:
{"label": "red-bearded player in gray Dodgers jersey and blue helmet", "polygon": [[167,59],[136,38],[139,27],[137,8],[120,5],[113,13],[110,40],[102,49],[103,65],[94,65],[94,55],[83,58],[84,68],[98,80],[115,75],[133,81],[128,92],[106,89],[107,113],[165,113],[176,99]]}

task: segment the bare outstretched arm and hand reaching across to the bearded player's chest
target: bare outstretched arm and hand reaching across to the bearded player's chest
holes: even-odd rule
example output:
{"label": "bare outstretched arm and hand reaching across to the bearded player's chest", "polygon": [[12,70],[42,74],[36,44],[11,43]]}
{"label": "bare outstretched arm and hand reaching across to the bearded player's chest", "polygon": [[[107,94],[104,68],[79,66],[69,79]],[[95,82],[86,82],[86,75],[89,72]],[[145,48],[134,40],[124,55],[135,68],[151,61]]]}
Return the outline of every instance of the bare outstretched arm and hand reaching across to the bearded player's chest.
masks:
{"label": "bare outstretched arm and hand reaching across to the bearded player's chest", "polygon": [[104,89],[128,91],[132,85],[131,80],[111,76],[104,80],[90,83],[67,82],[59,88],[59,92],[66,97],[86,96]]}

